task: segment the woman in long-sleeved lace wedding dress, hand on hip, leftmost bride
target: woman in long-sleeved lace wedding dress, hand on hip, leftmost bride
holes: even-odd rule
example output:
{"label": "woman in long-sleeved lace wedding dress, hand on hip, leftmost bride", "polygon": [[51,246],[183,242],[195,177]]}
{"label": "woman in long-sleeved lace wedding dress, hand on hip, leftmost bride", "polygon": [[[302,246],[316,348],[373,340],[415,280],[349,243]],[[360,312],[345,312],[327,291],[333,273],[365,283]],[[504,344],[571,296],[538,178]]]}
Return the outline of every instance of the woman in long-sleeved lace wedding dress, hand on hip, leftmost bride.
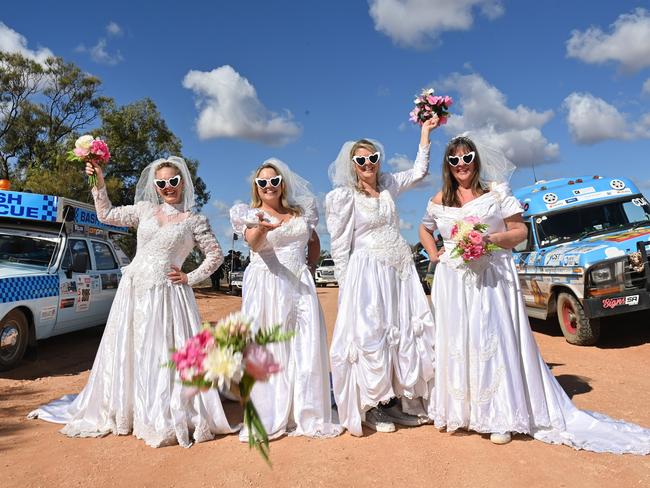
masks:
{"label": "woman in long-sleeved lace wedding dress, hand on hip, leftmost bride", "polygon": [[[200,330],[191,286],[223,262],[205,216],[194,212],[194,187],[185,161],[159,159],[142,172],[135,204],[113,207],[102,170],[92,189],[97,216],[111,225],[137,227],[137,251],[124,269],[88,383],[30,413],[65,424],[70,437],[133,433],[152,447],[213,439],[232,433],[219,394],[182,393],[169,351]],[[180,267],[195,245],[205,260],[185,274]]]}

